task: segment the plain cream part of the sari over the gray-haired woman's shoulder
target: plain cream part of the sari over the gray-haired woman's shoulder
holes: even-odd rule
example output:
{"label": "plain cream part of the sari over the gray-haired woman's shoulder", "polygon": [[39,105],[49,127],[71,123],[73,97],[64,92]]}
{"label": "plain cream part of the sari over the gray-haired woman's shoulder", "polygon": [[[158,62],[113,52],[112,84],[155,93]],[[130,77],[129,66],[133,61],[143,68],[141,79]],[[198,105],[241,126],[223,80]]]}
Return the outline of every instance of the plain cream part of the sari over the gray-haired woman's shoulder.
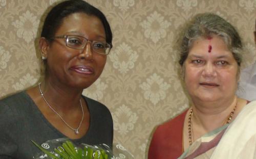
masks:
{"label": "plain cream part of the sari over the gray-haired woman's shoulder", "polygon": [[[229,124],[213,155],[227,156],[226,158],[249,158],[245,155],[252,152],[250,157],[253,158],[252,156],[256,149],[255,114],[256,101],[251,101],[243,107],[236,119]],[[230,150],[233,150],[232,153],[229,153]],[[243,150],[247,150],[247,153],[244,153],[243,157],[238,157],[241,152],[245,152]]]}

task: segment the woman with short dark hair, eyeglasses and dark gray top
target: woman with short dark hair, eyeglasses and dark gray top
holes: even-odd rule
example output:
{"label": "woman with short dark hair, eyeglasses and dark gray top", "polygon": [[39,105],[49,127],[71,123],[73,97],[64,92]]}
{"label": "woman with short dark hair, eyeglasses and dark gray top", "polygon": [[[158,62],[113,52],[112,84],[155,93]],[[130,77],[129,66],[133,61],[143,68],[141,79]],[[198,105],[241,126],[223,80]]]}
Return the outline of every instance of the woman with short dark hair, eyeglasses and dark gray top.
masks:
{"label": "woman with short dark hair, eyeglasses and dark gray top", "polygon": [[39,149],[31,140],[112,146],[108,108],[81,95],[100,76],[112,47],[104,14],[81,0],[62,2],[48,13],[39,46],[44,80],[0,101],[0,158],[32,158]]}

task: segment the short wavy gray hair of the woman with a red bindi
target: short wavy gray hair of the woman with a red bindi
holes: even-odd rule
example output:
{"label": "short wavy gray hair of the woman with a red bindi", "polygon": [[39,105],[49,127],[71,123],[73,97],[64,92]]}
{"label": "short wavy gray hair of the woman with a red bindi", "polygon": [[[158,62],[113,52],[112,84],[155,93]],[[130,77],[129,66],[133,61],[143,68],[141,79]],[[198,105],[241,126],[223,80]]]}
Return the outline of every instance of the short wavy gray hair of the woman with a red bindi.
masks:
{"label": "short wavy gray hair of the woman with a red bindi", "polygon": [[185,27],[179,39],[179,64],[181,66],[183,66],[194,41],[217,35],[224,40],[240,68],[243,51],[242,41],[234,26],[225,19],[213,13],[202,13],[194,16]]}

